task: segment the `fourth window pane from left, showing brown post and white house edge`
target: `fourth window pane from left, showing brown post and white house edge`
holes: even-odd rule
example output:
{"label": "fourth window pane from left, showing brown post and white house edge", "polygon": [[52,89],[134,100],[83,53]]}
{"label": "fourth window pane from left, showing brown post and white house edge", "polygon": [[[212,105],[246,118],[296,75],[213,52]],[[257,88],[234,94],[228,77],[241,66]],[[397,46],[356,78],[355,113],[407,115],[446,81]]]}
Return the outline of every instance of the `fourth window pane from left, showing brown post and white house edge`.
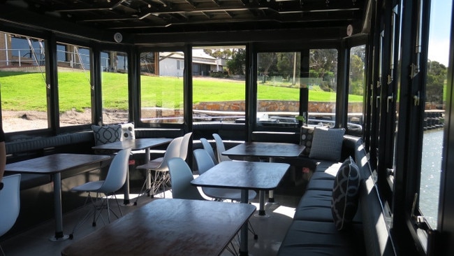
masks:
{"label": "fourth window pane from left, showing brown post and white house edge", "polygon": [[183,123],[184,52],[140,53],[140,121]]}

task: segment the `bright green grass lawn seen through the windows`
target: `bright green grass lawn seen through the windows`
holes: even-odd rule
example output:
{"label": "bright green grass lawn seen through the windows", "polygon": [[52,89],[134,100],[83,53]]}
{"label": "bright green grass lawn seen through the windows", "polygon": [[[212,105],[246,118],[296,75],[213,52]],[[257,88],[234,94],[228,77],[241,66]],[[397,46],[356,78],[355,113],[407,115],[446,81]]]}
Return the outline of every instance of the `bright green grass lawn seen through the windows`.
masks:
{"label": "bright green grass lawn seen through the windows", "polygon": [[[127,108],[127,75],[103,73],[104,108]],[[46,85],[41,73],[0,72],[1,104],[3,110],[45,111]],[[59,72],[60,111],[83,111],[91,107],[89,73]],[[105,89],[104,89],[105,88]],[[193,79],[193,103],[203,101],[244,100],[244,81]],[[176,92],[176,94],[175,94]],[[142,76],[142,106],[159,101],[159,95],[175,94],[182,99],[183,78]],[[258,99],[298,101],[299,89],[258,84]],[[335,92],[323,92],[318,87],[309,90],[309,101],[335,101]],[[363,101],[362,96],[349,95],[349,101]]]}

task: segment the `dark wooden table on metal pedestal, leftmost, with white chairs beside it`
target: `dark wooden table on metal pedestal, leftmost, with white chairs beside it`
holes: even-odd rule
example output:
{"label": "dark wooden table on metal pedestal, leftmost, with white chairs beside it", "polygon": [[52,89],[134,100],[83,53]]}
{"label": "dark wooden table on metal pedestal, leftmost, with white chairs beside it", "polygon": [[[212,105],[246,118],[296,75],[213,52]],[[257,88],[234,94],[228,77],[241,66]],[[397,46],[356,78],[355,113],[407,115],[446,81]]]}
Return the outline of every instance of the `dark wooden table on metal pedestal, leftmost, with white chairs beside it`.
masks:
{"label": "dark wooden table on metal pedestal, leftmost, with white chairs beside it", "polygon": [[[55,235],[52,241],[68,239],[63,234],[63,214],[61,210],[61,173],[89,164],[101,163],[110,159],[108,155],[54,154],[6,164],[5,171],[13,173],[47,174],[54,182]],[[101,164],[100,164],[101,166]]]}

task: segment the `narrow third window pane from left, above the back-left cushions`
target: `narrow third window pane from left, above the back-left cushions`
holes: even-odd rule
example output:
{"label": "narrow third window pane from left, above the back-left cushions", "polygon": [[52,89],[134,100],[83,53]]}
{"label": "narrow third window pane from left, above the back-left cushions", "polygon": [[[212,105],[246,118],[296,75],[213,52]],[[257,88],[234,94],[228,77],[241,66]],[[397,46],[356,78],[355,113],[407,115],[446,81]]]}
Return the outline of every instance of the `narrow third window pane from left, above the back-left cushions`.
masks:
{"label": "narrow third window pane from left, above the back-left cushions", "polygon": [[101,52],[103,124],[128,122],[128,57],[126,52]]}

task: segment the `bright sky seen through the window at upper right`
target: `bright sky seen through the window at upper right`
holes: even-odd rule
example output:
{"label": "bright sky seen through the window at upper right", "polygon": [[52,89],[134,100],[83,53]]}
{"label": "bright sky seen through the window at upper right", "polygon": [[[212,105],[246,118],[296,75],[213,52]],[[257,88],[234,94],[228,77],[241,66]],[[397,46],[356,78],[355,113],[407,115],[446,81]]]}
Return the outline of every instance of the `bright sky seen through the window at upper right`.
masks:
{"label": "bright sky seen through the window at upper right", "polygon": [[453,1],[432,0],[428,58],[448,66]]}

